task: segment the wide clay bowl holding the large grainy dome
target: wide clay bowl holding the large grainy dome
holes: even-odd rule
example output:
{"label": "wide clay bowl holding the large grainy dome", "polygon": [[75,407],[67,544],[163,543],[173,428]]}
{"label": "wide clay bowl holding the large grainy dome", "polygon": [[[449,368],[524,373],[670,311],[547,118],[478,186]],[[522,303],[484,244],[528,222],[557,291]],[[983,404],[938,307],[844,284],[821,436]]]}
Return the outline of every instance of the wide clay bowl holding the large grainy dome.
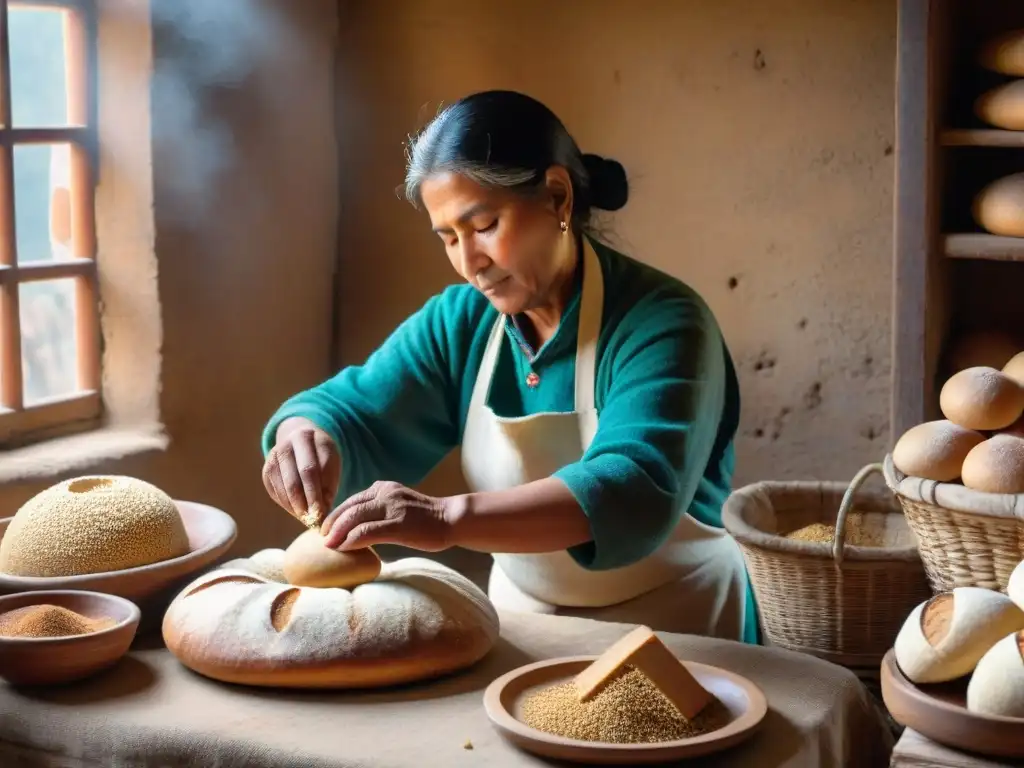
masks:
{"label": "wide clay bowl holding the large grainy dome", "polygon": [[[195,502],[174,504],[188,534],[189,551],[180,557],[124,570],[74,577],[12,577],[0,573],[0,595],[37,590],[89,590],[138,603],[143,616],[163,614],[171,597],[204,568],[213,565],[234,543],[238,528],[225,512]],[[0,539],[13,518],[0,520]]]}

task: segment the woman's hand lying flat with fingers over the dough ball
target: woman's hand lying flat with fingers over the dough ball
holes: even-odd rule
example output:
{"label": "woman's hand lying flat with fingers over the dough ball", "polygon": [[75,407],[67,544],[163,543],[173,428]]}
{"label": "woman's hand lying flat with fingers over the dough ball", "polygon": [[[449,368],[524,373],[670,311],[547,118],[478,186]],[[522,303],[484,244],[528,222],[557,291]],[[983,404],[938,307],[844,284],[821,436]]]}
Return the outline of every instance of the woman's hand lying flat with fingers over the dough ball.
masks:
{"label": "woman's hand lying flat with fingers over the dough ball", "polygon": [[397,482],[375,482],[342,502],[321,526],[325,546],[340,551],[400,544],[440,552],[451,544],[445,503]]}

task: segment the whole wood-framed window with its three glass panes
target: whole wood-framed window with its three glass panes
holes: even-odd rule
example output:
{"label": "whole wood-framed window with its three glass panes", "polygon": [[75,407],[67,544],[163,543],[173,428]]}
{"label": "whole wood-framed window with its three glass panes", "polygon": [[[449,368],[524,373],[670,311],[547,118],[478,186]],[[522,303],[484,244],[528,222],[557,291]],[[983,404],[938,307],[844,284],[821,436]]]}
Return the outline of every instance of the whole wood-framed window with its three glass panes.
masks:
{"label": "whole wood-framed window with its three glass panes", "polygon": [[93,28],[0,0],[0,449],[100,415]]}

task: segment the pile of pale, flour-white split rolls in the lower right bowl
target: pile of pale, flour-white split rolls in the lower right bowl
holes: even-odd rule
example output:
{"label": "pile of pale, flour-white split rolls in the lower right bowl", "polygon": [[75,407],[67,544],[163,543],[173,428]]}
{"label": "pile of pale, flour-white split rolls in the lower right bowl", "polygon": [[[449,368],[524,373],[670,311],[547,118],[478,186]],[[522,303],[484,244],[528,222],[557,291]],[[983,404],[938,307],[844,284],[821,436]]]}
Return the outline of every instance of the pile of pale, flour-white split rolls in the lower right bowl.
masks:
{"label": "pile of pale, flour-white split rolls in the lower right bowl", "polygon": [[970,712],[1024,718],[1024,562],[1014,569],[1006,595],[957,587],[918,605],[893,652],[910,682],[969,677]]}

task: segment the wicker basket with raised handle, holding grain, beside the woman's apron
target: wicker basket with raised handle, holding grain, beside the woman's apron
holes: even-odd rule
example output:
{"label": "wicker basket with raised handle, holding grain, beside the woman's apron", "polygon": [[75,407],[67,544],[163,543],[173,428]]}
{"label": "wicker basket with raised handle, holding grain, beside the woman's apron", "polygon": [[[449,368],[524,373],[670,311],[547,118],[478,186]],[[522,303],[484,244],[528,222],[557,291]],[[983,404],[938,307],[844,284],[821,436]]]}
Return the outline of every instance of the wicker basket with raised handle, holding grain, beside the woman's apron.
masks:
{"label": "wicker basket with raised handle, holding grain, beside the woman's apron", "polygon": [[[916,539],[892,494],[861,489],[882,471],[870,464],[849,485],[759,482],[729,497],[722,519],[742,550],[771,645],[878,669],[907,614],[931,596]],[[851,510],[865,513],[883,546],[845,544]],[[784,536],[815,522],[835,524],[835,540]]]}

